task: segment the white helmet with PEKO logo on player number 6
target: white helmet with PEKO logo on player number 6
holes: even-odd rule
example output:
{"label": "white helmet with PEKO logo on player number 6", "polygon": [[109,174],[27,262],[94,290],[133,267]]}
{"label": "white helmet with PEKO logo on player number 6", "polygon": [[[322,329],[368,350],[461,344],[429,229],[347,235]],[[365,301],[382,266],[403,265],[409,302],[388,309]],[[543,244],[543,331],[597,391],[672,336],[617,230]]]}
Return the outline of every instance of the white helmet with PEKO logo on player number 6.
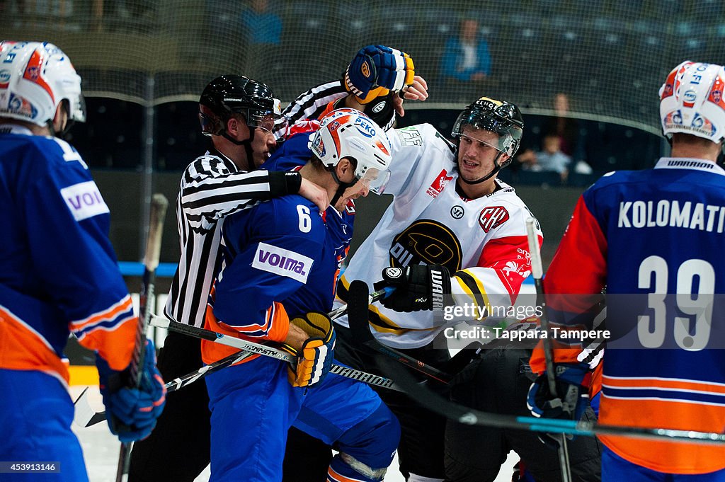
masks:
{"label": "white helmet with PEKO logo on player number 6", "polygon": [[336,109],[320,120],[307,146],[328,170],[340,159],[355,159],[355,178],[381,194],[390,177],[390,141],[380,126],[355,109]]}

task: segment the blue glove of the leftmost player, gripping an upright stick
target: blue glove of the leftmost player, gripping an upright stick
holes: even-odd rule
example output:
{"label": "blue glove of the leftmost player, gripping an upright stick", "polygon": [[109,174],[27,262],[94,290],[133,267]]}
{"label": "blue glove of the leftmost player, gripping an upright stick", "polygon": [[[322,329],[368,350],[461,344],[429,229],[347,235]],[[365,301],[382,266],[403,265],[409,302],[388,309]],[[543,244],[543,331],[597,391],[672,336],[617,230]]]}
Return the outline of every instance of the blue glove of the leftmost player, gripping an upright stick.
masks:
{"label": "blue glove of the leftmost player, gripping an upright stick", "polygon": [[112,370],[101,357],[96,357],[96,367],[111,433],[122,442],[145,439],[156,426],[166,402],[166,388],[156,368],[153,342],[146,341],[144,365],[138,368],[141,378],[138,388],[131,386],[128,367],[121,372]]}

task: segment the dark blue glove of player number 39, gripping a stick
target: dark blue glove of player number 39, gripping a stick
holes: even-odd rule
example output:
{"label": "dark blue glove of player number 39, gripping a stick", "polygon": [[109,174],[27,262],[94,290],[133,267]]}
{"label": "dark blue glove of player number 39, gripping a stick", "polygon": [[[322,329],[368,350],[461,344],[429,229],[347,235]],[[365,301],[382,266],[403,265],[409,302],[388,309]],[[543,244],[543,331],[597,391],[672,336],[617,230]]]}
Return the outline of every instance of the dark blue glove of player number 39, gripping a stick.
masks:
{"label": "dark blue glove of player number 39, gripping a stick", "polygon": [[550,394],[547,374],[542,373],[531,383],[526,405],[534,417],[568,418],[581,420],[589,405],[589,384],[592,374],[586,363],[556,365],[556,391]]}

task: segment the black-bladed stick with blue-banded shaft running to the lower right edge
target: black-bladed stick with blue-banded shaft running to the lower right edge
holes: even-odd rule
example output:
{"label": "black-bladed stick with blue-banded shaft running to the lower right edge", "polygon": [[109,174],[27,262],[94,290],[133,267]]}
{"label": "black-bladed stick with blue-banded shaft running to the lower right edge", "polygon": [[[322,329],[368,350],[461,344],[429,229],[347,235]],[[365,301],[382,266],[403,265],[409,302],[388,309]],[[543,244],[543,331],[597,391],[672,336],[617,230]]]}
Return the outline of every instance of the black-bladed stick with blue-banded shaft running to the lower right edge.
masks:
{"label": "black-bladed stick with blue-banded shaft running to the lower right edge", "polygon": [[484,427],[516,428],[544,433],[571,433],[580,436],[615,435],[629,436],[639,439],[655,439],[689,444],[725,444],[725,433],[698,432],[675,430],[670,428],[626,427],[622,425],[601,425],[589,421],[563,420],[558,418],[517,417],[497,413],[481,412],[437,394],[426,386],[418,383],[409,370],[401,364],[376,354],[384,374],[395,381],[403,390],[426,407],[450,420],[464,425],[480,425]]}

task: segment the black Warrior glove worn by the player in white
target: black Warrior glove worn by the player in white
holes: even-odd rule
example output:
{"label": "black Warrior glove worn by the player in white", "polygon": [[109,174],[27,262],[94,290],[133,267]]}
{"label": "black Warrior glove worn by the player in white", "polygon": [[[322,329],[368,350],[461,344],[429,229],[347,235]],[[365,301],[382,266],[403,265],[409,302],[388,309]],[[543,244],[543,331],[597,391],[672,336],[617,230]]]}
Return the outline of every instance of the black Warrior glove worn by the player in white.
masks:
{"label": "black Warrior glove worn by the player in white", "polygon": [[375,283],[375,291],[395,288],[381,300],[384,307],[399,312],[443,307],[443,296],[451,291],[451,276],[442,265],[413,265],[404,268],[386,267],[383,281]]}

